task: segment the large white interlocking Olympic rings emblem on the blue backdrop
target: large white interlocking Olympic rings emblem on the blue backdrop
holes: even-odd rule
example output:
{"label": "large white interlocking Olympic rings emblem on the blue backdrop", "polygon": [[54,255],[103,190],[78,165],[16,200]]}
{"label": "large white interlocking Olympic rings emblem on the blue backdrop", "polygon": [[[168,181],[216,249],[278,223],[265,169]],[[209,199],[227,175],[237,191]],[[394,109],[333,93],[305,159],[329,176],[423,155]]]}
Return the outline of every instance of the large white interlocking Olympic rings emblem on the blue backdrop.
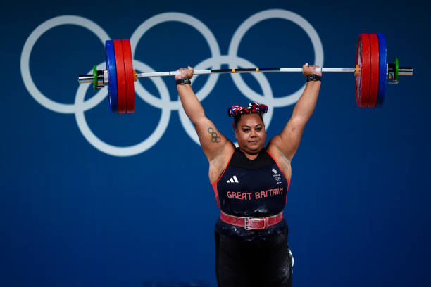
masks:
{"label": "large white interlocking Olympic rings emblem on the blue backdrop", "polygon": [[[155,25],[164,22],[177,21],[191,25],[196,30],[198,30],[204,36],[204,39],[206,39],[206,42],[208,43],[208,46],[210,48],[211,57],[195,65],[194,68],[196,70],[208,68],[219,69],[220,66],[223,64],[230,65],[231,68],[254,67],[255,65],[250,63],[248,60],[237,56],[239,43],[241,42],[242,37],[244,37],[244,34],[251,27],[256,25],[256,23],[271,18],[282,18],[285,20],[290,20],[296,23],[296,25],[299,25],[299,27],[301,27],[306,32],[308,37],[310,37],[313,44],[313,49],[315,53],[314,63],[316,63],[316,65],[323,66],[323,46],[320,42],[320,38],[318,37],[316,30],[314,30],[313,26],[311,26],[311,24],[308,23],[300,15],[291,11],[281,9],[261,11],[247,18],[244,23],[242,23],[242,25],[238,27],[237,31],[233,35],[229,46],[229,52],[226,56],[220,55],[220,48],[217,41],[215,40],[213,33],[211,32],[211,30],[208,29],[208,27],[206,27],[206,25],[204,25],[204,23],[201,23],[201,21],[199,21],[198,19],[185,13],[161,13],[144,21],[144,23],[139,25],[139,27],[137,27],[137,30],[135,30],[135,32],[132,34],[132,37],[130,37],[132,56],[135,54],[135,50],[139,40],[142,38],[142,36],[147,30],[149,30],[151,27],[154,27]],[[106,32],[101,27],[99,27],[99,25],[92,22],[91,20],[88,20],[87,18],[83,18],[80,16],[58,16],[55,18],[51,18],[50,20],[46,20],[44,23],[39,25],[30,34],[27,41],[25,42],[23,52],[21,53],[20,61],[21,75],[23,77],[25,87],[29,91],[30,95],[35,98],[38,103],[40,103],[45,108],[53,110],[57,113],[75,113],[77,125],[85,139],[87,139],[87,141],[99,151],[107,153],[108,155],[132,156],[149,150],[149,148],[154,146],[154,144],[156,144],[158,140],[161,139],[161,136],[163,136],[163,134],[165,133],[165,130],[168,127],[170,121],[170,113],[173,110],[179,111],[180,122],[182,124],[182,127],[184,127],[185,132],[193,141],[196,142],[196,144],[199,144],[199,139],[194,130],[194,126],[185,114],[184,109],[182,109],[180,101],[170,100],[168,88],[166,87],[165,82],[163,82],[163,79],[161,79],[160,77],[151,77],[151,80],[154,82],[156,89],[160,94],[160,98],[146,91],[146,89],[144,89],[142,84],[140,84],[139,82],[135,84],[135,93],[138,94],[140,98],[146,101],[146,103],[149,103],[151,106],[161,108],[162,113],[154,132],[141,143],[132,146],[119,147],[112,146],[111,144],[106,144],[104,141],[101,141],[101,139],[99,139],[87,125],[84,115],[85,111],[94,108],[94,106],[98,105],[99,103],[101,103],[101,101],[104,100],[104,98],[108,95],[106,89],[101,89],[94,96],[92,96],[92,98],[85,100],[85,92],[87,91],[90,84],[80,84],[80,87],[78,87],[76,92],[74,104],[57,103],[49,98],[46,98],[46,96],[44,96],[44,94],[42,94],[39,89],[37,89],[30,75],[30,53],[33,49],[33,46],[35,46],[37,39],[39,39],[39,37],[41,37],[44,32],[59,25],[79,25],[81,27],[85,27],[94,34],[96,34],[96,36],[99,37],[102,43],[110,39],[108,34],[106,34]],[[133,60],[133,66],[136,70],[142,72],[154,72],[151,67],[142,62],[139,62],[138,60]],[[105,68],[104,63],[100,63],[97,68]],[[89,73],[91,72],[92,71],[89,71]],[[270,120],[273,117],[274,108],[289,106],[293,103],[296,103],[296,101],[298,101],[299,97],[304,91],[305,85],[293,94],[275,98],[273,96],[273,91],[270,87],[268,79],[263,73],[253,73],[251,75],[253,75],[258,81],[258,84],[261,86],[261,89],[263,91],[263,95],[257,94],[255,91],[250,89],[242,79],[241,75],[232,74],[231,77],[239,91],[241,91],[244,96],[249,98],[251,101],[263,102],[268,105],[268,114],[266,115],[266,117],[264,117],[265,125],[268,128],[270,125]],[[218,80],[218,76],[218,74],[210,75],[204,86],[199,91],[196,91],[196,96],[199,98],[199,101],[203,101],[204,98],[206,98],[206,96],[211,93]],[[195,78],[197,77],[198,75],[195,76]]]}

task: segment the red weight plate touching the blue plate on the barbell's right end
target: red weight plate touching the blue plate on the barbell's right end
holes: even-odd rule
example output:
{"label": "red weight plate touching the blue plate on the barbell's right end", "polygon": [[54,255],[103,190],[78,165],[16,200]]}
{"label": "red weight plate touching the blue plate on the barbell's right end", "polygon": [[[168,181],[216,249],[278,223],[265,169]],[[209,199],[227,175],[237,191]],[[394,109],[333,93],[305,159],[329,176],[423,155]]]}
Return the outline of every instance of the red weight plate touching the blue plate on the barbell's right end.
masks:
{"label": "red weight plate touching the blue plate on the barbell's right end", "polygon": [[371,50],[371,75],[370,75],[370,101],[368,101],[368,108],[375,108],[377,103],[377,96],[379,94],[379,38],[377,34],[369,34],[370,36],[370,50]]}

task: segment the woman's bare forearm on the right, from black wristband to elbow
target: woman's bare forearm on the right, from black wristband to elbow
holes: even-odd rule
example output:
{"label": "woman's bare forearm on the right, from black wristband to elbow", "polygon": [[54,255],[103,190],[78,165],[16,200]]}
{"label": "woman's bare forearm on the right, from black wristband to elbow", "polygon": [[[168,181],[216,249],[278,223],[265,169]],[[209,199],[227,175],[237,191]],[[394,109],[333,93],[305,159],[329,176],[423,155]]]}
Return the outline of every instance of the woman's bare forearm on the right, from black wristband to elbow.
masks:
{"label": "woman's bare forearm on the right, from black wristband to elbow", "polygon": [[320,84],[320,81],[310,81],[306,84],[304,93],[295,105],[292,118],[301,120],[304,123],[308,122],[311,115],[313,115],[314,108],[316,108]]}

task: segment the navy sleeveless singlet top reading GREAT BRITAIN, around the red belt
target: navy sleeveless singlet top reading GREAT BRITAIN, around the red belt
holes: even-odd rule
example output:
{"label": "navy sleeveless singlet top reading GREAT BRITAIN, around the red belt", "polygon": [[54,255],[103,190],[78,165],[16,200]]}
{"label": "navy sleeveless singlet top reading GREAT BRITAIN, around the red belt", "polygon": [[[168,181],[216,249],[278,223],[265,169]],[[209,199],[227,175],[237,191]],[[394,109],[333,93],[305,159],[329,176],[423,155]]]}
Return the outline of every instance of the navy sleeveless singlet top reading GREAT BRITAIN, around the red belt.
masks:
{"label": "navy sleeveless singlet top reading GREAT BRITAIN, around the red belt", "polygon": [[[254,160],[235,148],[223,174],[212,184],[218,207],[228,215],[268,217],[285,208],[290,181],[282,174],[277,162],[265,148]],[[268,238],[286,227],[285,220],[260,231],[247,231],[222,222],[215,230],[221,234],[246,240]]]}

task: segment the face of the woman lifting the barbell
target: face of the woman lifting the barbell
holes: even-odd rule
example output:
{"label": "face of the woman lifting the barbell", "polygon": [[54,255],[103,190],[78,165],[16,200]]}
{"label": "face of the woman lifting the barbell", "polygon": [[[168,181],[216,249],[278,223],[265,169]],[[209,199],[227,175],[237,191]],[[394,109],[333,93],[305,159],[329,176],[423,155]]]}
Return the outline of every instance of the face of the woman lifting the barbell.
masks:
{"label": "face of the woman lifting the barbell", "polygon": [[265,125],[258,114],[243,115],[235,129],[239,148],[249,154],[256,154],[266,141]]}

